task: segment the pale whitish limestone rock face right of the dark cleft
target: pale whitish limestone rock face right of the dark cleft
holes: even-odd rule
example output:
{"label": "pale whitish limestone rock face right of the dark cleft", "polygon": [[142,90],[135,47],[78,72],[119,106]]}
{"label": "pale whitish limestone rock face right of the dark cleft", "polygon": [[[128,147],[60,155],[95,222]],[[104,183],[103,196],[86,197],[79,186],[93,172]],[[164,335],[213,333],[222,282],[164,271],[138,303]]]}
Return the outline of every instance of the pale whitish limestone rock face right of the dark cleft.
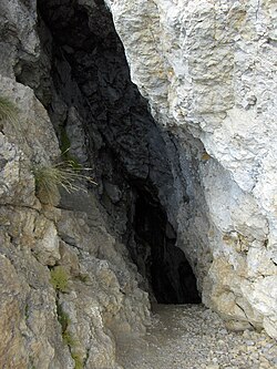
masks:
{"label": "pale whitish limestone rock face right of the dark cleft", "polygon": [[189,202],[175,176],[178,206],[165,205],[203,301],[235,329],[277,337],[276,2],[105,2],[132,80],[178,147]]}

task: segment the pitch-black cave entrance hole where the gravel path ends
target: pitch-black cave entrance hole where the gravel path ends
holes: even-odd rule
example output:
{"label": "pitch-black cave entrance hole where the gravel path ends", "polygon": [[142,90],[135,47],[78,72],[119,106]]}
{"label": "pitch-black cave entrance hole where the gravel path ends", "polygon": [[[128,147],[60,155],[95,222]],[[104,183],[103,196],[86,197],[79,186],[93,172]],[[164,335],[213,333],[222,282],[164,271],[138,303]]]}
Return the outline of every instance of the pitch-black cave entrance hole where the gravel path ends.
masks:
{"label": "pitch-black cave entrance hole where the gravel path ends", "polygon": [[137,191],[133,228],[133,260],[147,278],[158,304],[199,304],[196,278],[185,254],[175,246],[176,233],[161,204]]}

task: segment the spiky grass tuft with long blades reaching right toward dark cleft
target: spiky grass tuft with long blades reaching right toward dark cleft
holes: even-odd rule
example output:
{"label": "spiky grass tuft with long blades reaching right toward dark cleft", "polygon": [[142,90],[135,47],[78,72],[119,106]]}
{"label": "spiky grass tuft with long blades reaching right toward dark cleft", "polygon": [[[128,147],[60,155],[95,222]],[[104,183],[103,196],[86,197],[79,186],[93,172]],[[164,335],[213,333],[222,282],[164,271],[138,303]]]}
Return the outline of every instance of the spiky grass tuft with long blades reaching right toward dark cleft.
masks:
{"label": "spiky grass tuft with long blades reaching right toward dark cleft", "polygon": [[80,185],[81,181],[88,181],[95,185],[96,183],[91,176],[83,174],[84,171],[91,171],[91,168],[76,166],[73,161],[33,167],[38,197],[42,203],[55,204],[60,187],[68,193],[72,193],[85,191]]}

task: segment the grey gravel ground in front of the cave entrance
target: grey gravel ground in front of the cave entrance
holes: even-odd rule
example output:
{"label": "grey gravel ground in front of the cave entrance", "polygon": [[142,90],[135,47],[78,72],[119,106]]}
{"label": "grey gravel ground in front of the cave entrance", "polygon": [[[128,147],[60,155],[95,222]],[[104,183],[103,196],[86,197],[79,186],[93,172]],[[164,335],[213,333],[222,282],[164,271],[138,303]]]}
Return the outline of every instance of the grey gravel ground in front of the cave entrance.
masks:
{"label": "grey gravel ground in front of the cave entrance", "polygon": [[158,305],[144,338],[119,342],[124,369],[277,369],[277,342],[265,332],[230,332],[202,305]]}

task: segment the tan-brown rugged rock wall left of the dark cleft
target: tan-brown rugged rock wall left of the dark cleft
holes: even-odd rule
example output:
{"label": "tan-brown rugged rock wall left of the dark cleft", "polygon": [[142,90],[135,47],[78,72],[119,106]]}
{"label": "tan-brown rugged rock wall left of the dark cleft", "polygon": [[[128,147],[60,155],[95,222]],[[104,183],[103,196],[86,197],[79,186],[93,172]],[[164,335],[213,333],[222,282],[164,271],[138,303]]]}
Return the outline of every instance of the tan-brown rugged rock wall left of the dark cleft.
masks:
{"label": "tan-brown rugged rock wall left of the dark cleft", "polygon": [[[68,114],[82,130],[74,104],[51,95],[37,22],[32,1],[1,2],[0,96],[12,112],[0,106],[0,367],[117,369],[116,339],[144,332],[148,298],[93,188],[81,183],[84,191],[64,193],[57,206],[38,193],[35,168],[60,162],[61,151],[34,91],[45,105],[60,102],[54,117]],[[32,89],[18,82],[23,72]],[[74,144],[88,161],[81,139]]]}

